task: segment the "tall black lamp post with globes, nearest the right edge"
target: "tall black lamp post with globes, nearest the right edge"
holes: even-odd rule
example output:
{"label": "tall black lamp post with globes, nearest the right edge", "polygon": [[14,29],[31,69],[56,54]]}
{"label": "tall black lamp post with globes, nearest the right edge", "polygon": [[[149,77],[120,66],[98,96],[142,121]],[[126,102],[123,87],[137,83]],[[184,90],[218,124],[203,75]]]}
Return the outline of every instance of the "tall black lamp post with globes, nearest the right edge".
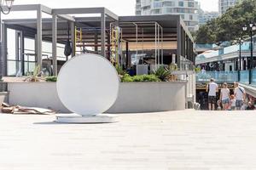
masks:
{"label": "tall black lamp post with globes, nearest the right edge", "polygon": [[249,26],[243,26],[242,30],[247,31],[250,29],[250,37],[251,37],[251,57],[250,57],[250,63],[249,63],[249,84],[252,84],[253,81],[253,31],[256,31],[256,26],[251,23]]}

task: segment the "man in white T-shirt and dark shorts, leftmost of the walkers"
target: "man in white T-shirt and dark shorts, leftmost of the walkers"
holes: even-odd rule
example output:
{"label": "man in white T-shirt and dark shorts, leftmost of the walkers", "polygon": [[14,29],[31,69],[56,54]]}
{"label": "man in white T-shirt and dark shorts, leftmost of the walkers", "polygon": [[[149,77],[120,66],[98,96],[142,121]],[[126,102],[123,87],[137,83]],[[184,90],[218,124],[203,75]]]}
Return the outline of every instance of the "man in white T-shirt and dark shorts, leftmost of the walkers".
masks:
{"label": "man in white T-shirt and dark shorts, leftmost of the walkers", "polygon": [[218,84],[214,82],[213,78],[211,78],[210,83],[207,84],[207,92],[208,92],[209,111],[215,111]]}

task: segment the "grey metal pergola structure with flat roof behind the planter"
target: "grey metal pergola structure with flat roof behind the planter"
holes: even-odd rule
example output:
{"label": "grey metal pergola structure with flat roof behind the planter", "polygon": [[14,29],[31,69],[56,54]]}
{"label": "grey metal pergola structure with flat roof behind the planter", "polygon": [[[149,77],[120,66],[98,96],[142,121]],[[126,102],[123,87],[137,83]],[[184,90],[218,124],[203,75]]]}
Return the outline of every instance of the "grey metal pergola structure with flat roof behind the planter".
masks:
{"label": "grey metal pergola structure with flat roof behind the planter", "polygon": [[[19,62],[21,63],[24,62],[24,37],[35,40],[35,57],[37,65],[40,66],[42,66],[42,56],[44,55],[42,42],[51,42],[53,75],[57,75],[57,47],[58,44],[65,44],[67,37],[69,37],[69,35],[67,36],[67,24],[71,29],[72,56],[76,55],[77,48],[83,48],[82,51],[90,48],[90,52],[101,54],[109,59],[111,52],[110,26],[114,24],[122,29],[121,43],[125,47],[122,50],[125,51],[126,63],[131,62],[130,53],[135,51],[141,53],[144,50],[155,56],[156,64],[164,64],[164,61],[171,59],[173,54],[176,56],[177,65],[181,65],[182,58],[195,62],[193,38],[179,15],[119,17],[107,8],[52,9],[41,4],[15,5],[12,11],[19,11],[20,13],[22,11],[37,11],[37,19],[3,20],[4,76],[8,75],[7,29],[16,31],[16,59],[20,59]],[[43,13],[51,15],[52,18],[43,18]],[[77,14],[93,16],[74,16]],[[80,31],[79,43],[77,43],[78,28]],[[166,59],[163,59],[164,57]],[[24,70],[22,64],[20,67],[21,70]]]}

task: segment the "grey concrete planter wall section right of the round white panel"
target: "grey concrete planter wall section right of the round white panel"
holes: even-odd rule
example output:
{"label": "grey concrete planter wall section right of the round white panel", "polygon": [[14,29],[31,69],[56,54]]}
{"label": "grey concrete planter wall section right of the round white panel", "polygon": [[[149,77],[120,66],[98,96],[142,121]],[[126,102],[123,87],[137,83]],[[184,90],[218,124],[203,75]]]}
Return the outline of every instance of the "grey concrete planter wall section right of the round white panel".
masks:
{"label": "grey concrete planter wall section right of the round white panel", "polygon": [[124,82],[109,113],[180,111],[185,109],[187,82]]}

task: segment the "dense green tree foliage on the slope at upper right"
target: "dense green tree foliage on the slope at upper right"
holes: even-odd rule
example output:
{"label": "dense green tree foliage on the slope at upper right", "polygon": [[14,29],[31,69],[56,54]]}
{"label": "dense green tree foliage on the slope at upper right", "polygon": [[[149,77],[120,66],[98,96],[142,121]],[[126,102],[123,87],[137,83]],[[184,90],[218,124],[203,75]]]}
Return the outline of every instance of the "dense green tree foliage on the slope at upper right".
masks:
{"label": "dense green tree foliage on the slope at upper right", "polygon": [[[217,19],[207,22],[195,32],[195,42],[216,43],[232,41],[247,35],[242,26],[256,23],[256,0],[244,0]],[[256,33],[256,32],[255,32]]]}

